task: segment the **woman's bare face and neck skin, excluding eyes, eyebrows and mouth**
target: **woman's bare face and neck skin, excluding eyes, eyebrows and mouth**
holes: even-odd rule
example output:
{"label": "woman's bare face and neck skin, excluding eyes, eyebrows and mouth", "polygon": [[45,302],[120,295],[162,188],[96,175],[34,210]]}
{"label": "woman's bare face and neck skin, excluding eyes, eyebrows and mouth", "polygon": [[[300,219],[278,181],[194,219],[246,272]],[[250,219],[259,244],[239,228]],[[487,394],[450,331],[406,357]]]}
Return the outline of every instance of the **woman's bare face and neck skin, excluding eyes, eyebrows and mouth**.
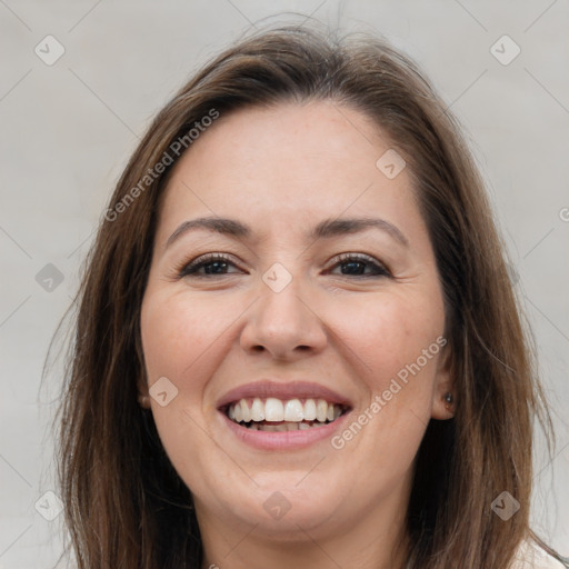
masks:
{"label": "woman's bare face and neck skin, excluding eyes, eyebrows and mouth", "polygon": [[[282,103],[221,116],[170,179],[141,333],[149,386],[167,377],[178,389],[167,406],[149,403],[194,496],[204,568],[401,567],[413,459],[429,419],[451,417],[445,349],[341,449],[329,439],[253,449],[216,408],[230,389],[272,377],[328,386],[351,400],[357,419],[443,336],[441,284],[409,172],[390,180],[376,167],[389,148],[357,110]],[[194,230],[167,247],[180,223],[208,216],[239,220],[253,234]],[[408,246],[375,228],[305,238],[338,217],[387,220]],[[179,277],[180,267],[216,252],[232,264]],[[339,253],[366,253],[391,276],[370,277],[369,264],[358,264],[367,274],[358,276],[338,264]],[[280,292],[261,278],[274,262],[292,278]],[[290,503],[280,519],[263,508],[274,491]]]}

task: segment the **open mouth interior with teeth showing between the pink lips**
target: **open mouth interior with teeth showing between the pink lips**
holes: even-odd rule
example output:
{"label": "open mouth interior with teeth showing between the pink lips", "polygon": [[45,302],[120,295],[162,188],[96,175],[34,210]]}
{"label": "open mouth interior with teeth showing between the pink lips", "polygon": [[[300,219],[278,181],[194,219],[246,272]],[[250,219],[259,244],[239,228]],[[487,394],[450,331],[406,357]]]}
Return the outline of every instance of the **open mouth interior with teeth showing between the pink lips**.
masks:
{"label": "open mouth interior with teeth showing between the pink lips", "polygon": [[350,408],[321,398],[241,398],[220,409],[230,421],[249,430],[288,432],[318,429]]}

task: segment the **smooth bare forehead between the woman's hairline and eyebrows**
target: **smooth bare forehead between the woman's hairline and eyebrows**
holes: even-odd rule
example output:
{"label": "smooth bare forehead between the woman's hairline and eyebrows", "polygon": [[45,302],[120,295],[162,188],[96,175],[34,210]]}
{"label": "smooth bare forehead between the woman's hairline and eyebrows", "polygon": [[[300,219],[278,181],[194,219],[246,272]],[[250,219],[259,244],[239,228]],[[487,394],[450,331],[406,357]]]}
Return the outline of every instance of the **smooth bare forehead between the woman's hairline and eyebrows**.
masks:
{"label": "smooth bare forehead between the woman's hairline and eyebrows", "polygon": [[290,233],[345,213],[416,219],[406,169],[392,179],[378,169],[390,149],[368,117],[331,101],[221,114],[177,163],[160,226],[238,216],[261,233]]}

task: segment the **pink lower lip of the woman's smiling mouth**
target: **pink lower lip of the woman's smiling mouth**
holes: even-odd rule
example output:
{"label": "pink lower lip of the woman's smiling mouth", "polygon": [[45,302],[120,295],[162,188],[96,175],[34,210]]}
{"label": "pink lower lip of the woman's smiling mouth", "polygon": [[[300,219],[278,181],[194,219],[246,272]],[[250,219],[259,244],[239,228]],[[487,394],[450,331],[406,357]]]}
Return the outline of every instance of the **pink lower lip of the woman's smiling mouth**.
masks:
{"label": "pink lower lip of the woman's smiling mouth", "polygon": [[241,427],[221,411],[220,415],[236,437],[250,447],[261,450],[296,450],[331,439],[333,433],[341,429],[350,413],[347,412],[322,427],[311,427],[302,431],[257,431]]}

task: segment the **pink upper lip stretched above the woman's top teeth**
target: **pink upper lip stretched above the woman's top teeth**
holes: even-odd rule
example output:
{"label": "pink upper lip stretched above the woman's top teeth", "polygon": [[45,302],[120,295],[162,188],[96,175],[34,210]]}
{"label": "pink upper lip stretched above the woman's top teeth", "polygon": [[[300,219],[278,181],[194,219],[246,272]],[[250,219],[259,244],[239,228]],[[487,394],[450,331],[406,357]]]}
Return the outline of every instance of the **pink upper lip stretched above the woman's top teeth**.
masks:
{"label": "pink upper lip stretched above the woman's top teeth", "polygon": [[345,407],[351,407],[350,400],[332,389],[313,383],[310,381],[274,381],[271,379],[262,379],[243,386],[236,387],[228,391],[218,402],[218,409],[229,403],[258,397],[267,399],[273,397],[288,401],[289,399],[325,399],[329,403],[337,403]]}

